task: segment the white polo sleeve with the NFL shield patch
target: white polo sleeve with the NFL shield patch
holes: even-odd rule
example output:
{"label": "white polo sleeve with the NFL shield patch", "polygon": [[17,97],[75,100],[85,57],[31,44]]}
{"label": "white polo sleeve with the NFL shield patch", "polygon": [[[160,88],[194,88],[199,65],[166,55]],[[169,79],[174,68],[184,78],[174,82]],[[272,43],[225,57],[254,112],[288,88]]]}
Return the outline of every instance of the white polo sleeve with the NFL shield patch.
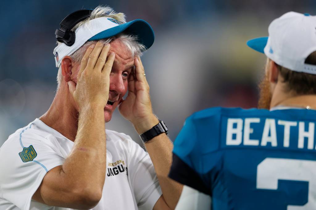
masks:
{"label": "white polo sleeve with the NFL shield patch", "polygon": [[[29,129],[31,130],[31,129]],[[3,198],[21,210],[29,210],[33,194],[46,173],[62,165],[50,142],[24,129],[10,137],[0,149],[0,188]]]}

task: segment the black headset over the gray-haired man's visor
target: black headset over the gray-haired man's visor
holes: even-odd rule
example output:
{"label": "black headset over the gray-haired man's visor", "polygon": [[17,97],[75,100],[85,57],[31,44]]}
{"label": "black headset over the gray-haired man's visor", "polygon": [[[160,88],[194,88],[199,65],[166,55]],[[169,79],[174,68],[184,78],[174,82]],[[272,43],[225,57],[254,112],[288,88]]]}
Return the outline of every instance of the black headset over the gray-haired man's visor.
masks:
{"label": "black headset over the gray-haired man's visor", "polygon": [[56,29],[55,35],[59,42],[65,43],[67,46],[71,46],[75,43],[76,34],[71,29],[84,19],[90,17],[92,9],[82,9],[67,15],[60,23],[60,28]]}

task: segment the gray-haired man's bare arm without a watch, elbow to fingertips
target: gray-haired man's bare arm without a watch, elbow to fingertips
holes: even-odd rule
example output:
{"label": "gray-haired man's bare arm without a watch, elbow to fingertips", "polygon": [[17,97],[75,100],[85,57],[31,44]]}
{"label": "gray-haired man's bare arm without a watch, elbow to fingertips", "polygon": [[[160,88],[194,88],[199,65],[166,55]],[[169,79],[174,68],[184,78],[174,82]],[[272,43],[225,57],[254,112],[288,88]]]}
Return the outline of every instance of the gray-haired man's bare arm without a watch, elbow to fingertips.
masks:
{"label": "gray-haired man's bare arm without a watch, elbow to fingertips", "polygon": [[[104,107],[109,96],[114,53],[98,42],[88,47],[78,73],[77,85],[68,82],[79,107],[74,146],[63,165],[47,172],[33,195],[49,206],[91,209],[102,197],[106,177],[106,133]],[[93,108],[92,108],[93,107]]]}

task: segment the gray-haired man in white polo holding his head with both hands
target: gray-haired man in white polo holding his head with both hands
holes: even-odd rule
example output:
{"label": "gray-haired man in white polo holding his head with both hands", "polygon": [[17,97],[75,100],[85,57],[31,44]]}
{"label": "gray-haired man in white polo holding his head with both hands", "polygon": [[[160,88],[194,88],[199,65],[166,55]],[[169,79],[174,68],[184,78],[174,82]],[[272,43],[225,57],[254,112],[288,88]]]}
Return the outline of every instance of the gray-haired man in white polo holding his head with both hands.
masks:
{"label": "gray-haired man in white polo holding his head with both hands", "polygon": [[[79,10],[56,30],[57,93],[0,149],[1,210],[174,209],[182,187],[167,177],[173,145],[152,112],[139,57],[154,34],[124,16],[108,7]],[[148,153],[105,130],[117,106]]]}

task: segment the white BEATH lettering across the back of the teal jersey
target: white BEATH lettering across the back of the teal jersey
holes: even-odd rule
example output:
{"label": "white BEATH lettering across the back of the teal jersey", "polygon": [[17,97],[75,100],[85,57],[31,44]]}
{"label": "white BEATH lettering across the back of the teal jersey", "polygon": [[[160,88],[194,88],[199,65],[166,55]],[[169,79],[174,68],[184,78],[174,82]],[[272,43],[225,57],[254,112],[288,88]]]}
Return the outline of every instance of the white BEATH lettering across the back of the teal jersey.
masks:
{"label": "white BEATH lettering across the back of the teal jersey", "polygon": [[315,150],[315,123],[272,118],[227,118],[227,146],[293,147]]}

